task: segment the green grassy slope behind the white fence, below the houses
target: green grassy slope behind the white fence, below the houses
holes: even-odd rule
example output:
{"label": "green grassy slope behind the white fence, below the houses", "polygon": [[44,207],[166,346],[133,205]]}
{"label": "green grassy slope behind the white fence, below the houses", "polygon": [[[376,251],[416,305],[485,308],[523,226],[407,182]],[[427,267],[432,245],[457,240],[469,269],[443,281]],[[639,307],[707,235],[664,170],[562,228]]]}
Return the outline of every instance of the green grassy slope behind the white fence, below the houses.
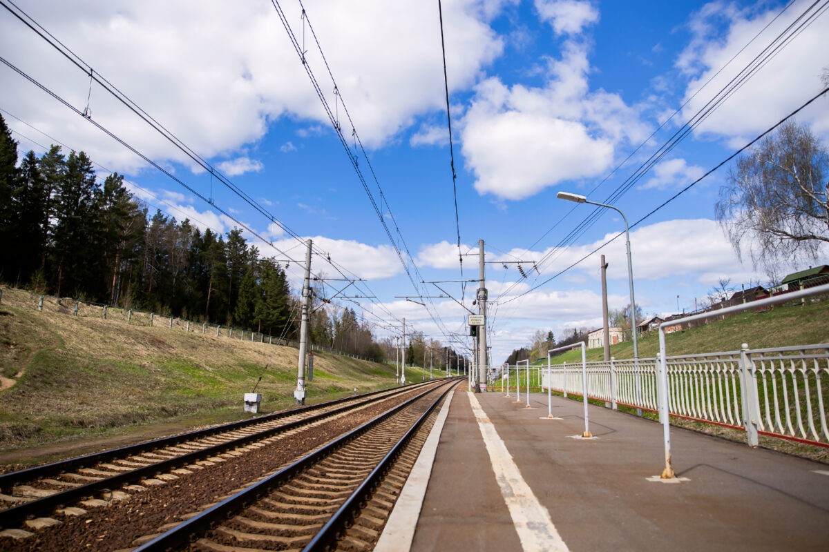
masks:
{"label": "green grassy slope behind the white fence, below the houses", "polygon": [[[667,334],[665,345],[669,356],[715,353],[739,350],[742,343],[749,348],[784,347],[829,342],[829,301],[801,305],[777,305],[763,312],[744,312],[725,320],[710,320],[709,324]],[[651,332],[639,338],[639,357],[653,358],[659,352],[659,335]],[[624,342],[610,347],[613,358],[633,358],[633,343]],[[587,360],[604,359],[602,348],[587,350]],[[551,360],[580,362],[581,352],[574,349]],[[546,364],[546,358],[536,363]]]}

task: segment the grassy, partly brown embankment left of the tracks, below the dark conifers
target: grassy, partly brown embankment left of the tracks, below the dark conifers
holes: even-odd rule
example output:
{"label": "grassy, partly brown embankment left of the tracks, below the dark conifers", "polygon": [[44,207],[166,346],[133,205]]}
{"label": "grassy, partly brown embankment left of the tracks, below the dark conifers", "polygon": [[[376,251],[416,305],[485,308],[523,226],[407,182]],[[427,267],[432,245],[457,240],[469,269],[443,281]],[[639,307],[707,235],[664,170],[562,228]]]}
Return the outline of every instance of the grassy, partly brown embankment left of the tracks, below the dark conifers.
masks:
{"label": "grassy, partly brown embankment left of the tracks, below the dark conifers", "polygon": [[[0,449],[116,434],[149,438],[237,420],[245,417],[244,393],[260,375],[256,392],[263,395],[262,411],[284,410],[294,404],[297,354],[296,348],[165,324],[75,317],[68,309],[39,311],[28,292],[3,289]],[[421,377],[419,370],[407,370],[408,380]],[[306,402],[394,382],[393,366],[317,353]]]}

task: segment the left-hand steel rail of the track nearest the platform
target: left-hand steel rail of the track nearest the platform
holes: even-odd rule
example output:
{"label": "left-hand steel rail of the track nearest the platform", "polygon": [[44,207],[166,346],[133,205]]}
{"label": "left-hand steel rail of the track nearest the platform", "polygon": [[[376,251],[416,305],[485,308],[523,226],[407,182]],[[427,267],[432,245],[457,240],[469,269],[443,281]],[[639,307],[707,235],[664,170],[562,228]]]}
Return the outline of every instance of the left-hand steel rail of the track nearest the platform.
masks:
{"label": "left-hand steel rail of the track nearest the platform", "polygon": [[[457,383],[457,380],[458,378],[455,377],[448,380],[446,383],[441,382],[435,387],[439,388],[440,386],[448,383],[455,384]],[[289,464],[269,477],[264,478],[250,487],[235,493],[232,497],[228,497],[222,502],[219,502],[216,506],[212,506],[211,508],[202,511],[197,516],[193,516],[189,520],[184,521],[182,524],[173,527],[166,533],[158,535],[158,537],[150,540],[144,545],[139,546],[133,550],[133,552],[166,552],[167,550],[179,550],[182,546],[189,545],[193,542],[193,540],[198,538],[198,535],[201,535],[206,530],[211,529],[216,525],[216,523],[228,519],[230,516],[233,516],[236,511],[239,511],[246,506],[250,506],[251,503],[267,495],[274,487],[279,487],[290,481],[299,473],[302,473],[315,463],[320,462],[322,459],[336,452],[338,449],[341,449],[352,440],[360,437],[362,434],[365,434],[382,421],[387,420],[400,410],[410,406],[414,403],[414,401],[418,401],[422,398],[422,396],[423,395],[415,396],[409,401],[400,403],[400,405],[385,411],[383,414],[377,415],[372,420],[367,421],[355,430],[349,431],[347,434],[333,440],[331,443],[323,446],[322,448],[315,450],[313,453],[308,454],[308,456],[298,459],[296,462]]]}

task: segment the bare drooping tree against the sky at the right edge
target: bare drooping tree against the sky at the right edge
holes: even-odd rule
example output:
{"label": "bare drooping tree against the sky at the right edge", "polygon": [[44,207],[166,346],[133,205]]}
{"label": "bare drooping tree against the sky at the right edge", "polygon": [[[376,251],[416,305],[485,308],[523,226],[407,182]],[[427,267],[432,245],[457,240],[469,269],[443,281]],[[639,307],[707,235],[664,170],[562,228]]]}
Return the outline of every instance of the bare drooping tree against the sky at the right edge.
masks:
{"label": "bare drooping tree against the sky at the right edge", "polygon": [[817,258],[829,242],[829,152],[804,125],[786,122],[740,157],[720,189],[717,221],[739,256],[773,270]]}

